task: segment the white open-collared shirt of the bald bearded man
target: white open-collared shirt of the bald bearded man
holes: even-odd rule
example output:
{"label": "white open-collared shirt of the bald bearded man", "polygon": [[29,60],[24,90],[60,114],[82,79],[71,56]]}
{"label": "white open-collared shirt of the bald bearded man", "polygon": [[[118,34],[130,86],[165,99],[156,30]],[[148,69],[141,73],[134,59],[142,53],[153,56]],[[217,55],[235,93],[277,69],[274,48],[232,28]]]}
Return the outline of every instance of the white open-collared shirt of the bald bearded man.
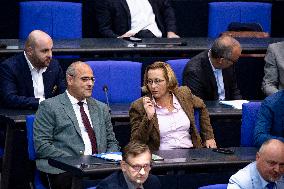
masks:
{"label": "white open-collared shirt of the bald bearded man", "polygon": [[42,74],[46,71],[47,67],[41,68],[39,70],[36,69],[30,62],[30,60],[28,59],[25,51],[24,51],[24,55],[25,55],[26,61],[31,71],[34,95],[35,95],[35,98],[39,98],[39,103],[40,103],[41,101],[45,100]]}

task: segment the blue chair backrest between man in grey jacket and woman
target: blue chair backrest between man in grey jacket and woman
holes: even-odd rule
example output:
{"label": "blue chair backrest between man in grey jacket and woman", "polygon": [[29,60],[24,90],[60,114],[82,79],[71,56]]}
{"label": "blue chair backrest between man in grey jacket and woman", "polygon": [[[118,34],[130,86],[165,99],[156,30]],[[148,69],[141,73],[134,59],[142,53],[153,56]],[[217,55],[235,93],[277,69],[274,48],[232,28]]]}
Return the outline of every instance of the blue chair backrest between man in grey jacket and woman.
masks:
{"label": "blue chair backrest between man in grey jacket and woman", "polygon": [[142,63],[132,61],[87,61],[96,78],[92,96],[106,102],[103,87],[108,88],[109,103],[131,103],[141,97]]}

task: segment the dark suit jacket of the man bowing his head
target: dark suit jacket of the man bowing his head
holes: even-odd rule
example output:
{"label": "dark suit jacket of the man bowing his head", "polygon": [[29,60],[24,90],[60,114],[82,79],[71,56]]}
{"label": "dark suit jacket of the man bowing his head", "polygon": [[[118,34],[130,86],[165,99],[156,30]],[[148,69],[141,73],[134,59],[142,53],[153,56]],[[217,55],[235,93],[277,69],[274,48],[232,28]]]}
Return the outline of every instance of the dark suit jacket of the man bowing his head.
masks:
{"label": "dark suit jacket of the man bowing his head", "polygon": [[[225,100],[241,99],[234,66],[222,70]],[[183,71],[183,85],[203,100],[218,100],[217,82],[208,58],[208,50],[193,57]]]}

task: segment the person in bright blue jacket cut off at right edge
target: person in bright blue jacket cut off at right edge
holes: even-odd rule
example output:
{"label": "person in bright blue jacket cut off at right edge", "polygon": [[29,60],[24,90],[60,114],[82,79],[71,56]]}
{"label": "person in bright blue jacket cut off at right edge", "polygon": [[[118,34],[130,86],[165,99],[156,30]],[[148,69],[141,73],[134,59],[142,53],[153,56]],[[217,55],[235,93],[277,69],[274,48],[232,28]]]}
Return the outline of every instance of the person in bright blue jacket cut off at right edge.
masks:
{"label": "person in bright blue jacket cut off at right edge", "polygon": [[284,90],[264,99],[258,112],[253,142],[256,147],[269,139],[284,142]]}

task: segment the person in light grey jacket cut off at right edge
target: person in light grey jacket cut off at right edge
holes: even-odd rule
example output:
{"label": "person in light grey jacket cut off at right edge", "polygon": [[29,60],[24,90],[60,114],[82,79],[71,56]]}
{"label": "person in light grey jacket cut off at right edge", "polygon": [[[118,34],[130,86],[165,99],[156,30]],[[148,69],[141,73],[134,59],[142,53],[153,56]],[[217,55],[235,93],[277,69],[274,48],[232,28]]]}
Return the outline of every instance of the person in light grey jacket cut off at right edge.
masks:
{"label": "person in light grey jacket cut off at right edge", "polygon": [[284,41],[270,44],[264,60],[262,90],[268,96],[284,89]]}

